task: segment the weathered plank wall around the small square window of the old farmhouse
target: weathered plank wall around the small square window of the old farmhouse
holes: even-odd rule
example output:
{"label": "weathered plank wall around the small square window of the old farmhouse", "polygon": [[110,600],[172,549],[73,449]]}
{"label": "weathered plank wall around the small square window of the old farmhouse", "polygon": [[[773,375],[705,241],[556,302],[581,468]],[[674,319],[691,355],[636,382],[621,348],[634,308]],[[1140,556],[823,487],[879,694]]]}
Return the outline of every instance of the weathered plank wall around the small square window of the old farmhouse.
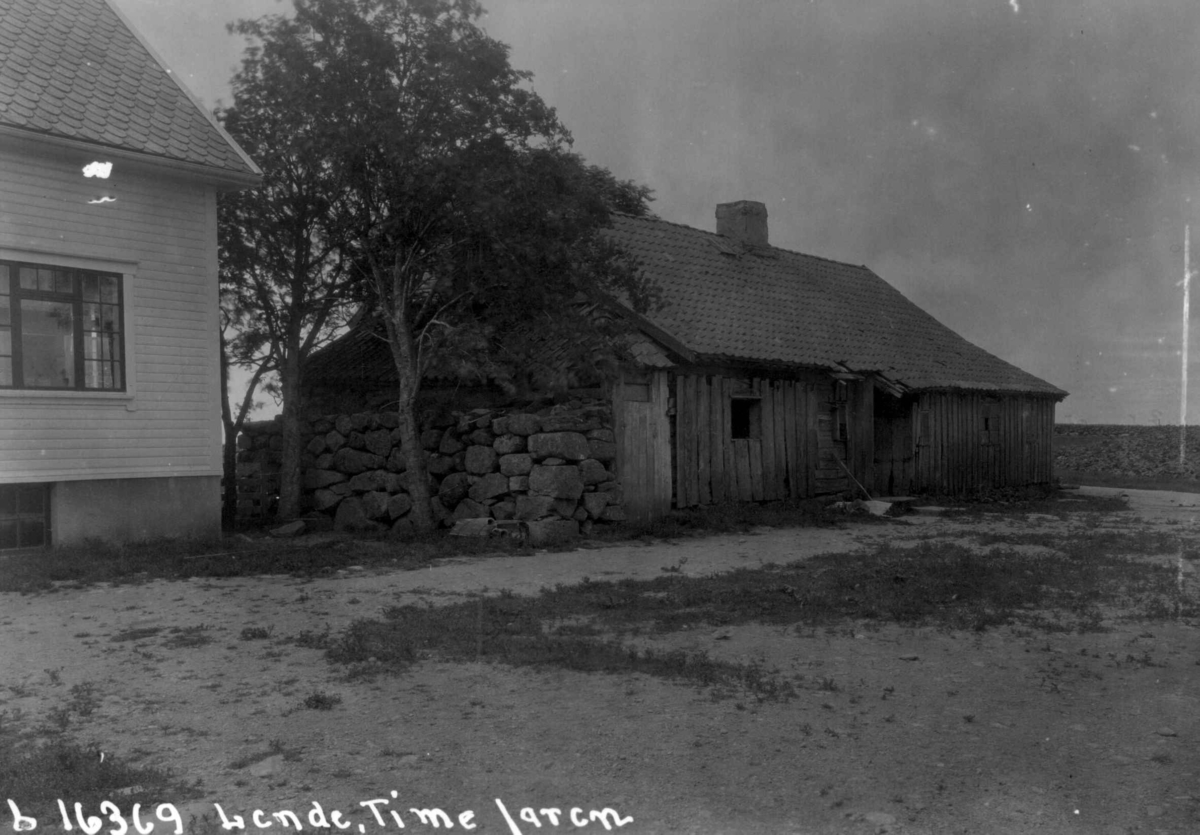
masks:
{"label": "weathered plank wall around the small square window of the old farmhouse", "polygon": [[[846,489],[845,471],[832,458],[826,461],[832,470],[817,470],[822,455],[836,452],[847,461],[846,445],[834,443],[828,421],[818,426],[818,415],[829,414],[829,384],[751,378],[757,395],[751,434],[757,437],[731,438],[731,402],[746,383],[718,373],[676,377],[676,506],[770,501]],[[862,456],[871,455],[872,433],[874,428],[862,441]]]}

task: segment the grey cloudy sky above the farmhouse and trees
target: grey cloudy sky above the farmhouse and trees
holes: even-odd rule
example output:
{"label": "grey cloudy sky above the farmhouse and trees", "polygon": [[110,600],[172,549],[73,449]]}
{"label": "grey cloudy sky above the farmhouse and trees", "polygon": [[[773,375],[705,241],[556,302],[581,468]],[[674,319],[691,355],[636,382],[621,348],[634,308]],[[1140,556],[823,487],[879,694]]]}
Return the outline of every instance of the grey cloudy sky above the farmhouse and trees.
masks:
{"label": "grey cloudy sky above the farmhouse and trees", "polygon": [[[209,103],[241,52],[223,24],[289,8],[116,4]],[[713,229],[718,203],[761,200],[776,246],[866,264],[1070,391],[1060,421],[1178,422],[1195,0],[485,6],[576,150],[665,220]],[[1200,374],[1189,401],[1200,422]]]}

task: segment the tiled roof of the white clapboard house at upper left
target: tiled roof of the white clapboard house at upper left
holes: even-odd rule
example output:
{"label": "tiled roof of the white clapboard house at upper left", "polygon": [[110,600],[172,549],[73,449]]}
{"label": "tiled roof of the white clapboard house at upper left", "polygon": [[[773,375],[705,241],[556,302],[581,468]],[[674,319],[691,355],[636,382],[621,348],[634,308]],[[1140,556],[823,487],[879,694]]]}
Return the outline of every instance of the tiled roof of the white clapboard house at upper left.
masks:
{"label": "tiled roof of the white clapboard house at upper left", "polygon": [[258,174],[108,0],[0,0],[0,126]]}

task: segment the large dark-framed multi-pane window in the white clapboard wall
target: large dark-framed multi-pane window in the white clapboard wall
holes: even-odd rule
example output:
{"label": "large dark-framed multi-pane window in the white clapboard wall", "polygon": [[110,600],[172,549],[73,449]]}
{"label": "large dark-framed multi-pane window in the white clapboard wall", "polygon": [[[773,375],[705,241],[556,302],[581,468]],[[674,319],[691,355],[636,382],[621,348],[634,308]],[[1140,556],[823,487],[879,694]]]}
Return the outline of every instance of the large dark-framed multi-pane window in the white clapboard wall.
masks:
{"label": "large dark-framed multi-pane window in the white clapboard wall", "polygon": [[0,388],[125,390],[121,276],[0,262]]}

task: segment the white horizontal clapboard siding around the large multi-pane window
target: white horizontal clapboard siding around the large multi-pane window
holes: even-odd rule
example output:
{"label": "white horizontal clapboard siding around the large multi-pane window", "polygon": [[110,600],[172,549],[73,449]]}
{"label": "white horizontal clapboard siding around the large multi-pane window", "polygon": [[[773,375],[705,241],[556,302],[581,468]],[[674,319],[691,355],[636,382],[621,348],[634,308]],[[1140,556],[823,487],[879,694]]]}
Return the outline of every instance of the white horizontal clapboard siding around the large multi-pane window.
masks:
{"label": "white horizontal clapboard siding around the large multi-pane window", "polygon": [[[110,180],[89,180],[89,161],[0,148],[0,252],[132,265],[132,391],[0,391],[0,482],[218,475],[215,192],[122,162]],[[88,205],[102,193],[116,203]]]}

